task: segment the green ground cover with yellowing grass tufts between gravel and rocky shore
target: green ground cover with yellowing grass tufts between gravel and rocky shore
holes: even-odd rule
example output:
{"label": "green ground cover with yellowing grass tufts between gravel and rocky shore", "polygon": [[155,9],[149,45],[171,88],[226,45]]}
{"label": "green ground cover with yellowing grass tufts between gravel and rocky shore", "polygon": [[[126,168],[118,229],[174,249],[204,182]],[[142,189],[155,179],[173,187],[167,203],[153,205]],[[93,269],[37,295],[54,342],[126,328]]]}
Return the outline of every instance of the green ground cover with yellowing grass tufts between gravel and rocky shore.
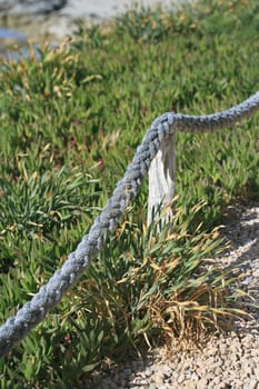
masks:
{"label": "green ground cover with yellowing grass tufts between gravel and rocky shore", "polygon": [[[165,111],[210,113],[258,90],[257,1],[139,9],[88,28],[41,61],[1,63],[0,321],[60,267]],[[258,198],[258,114],[177,134],[176,216],[146,226],[147,182],[80,282],[12,353],[1,388],[80,386],[106,359],[155,340],[199,340],[236,309],[213,259],[229,203]],[[243,307],[242,307],[243,309]],[[240,312],[239,312],[240,313]]]}

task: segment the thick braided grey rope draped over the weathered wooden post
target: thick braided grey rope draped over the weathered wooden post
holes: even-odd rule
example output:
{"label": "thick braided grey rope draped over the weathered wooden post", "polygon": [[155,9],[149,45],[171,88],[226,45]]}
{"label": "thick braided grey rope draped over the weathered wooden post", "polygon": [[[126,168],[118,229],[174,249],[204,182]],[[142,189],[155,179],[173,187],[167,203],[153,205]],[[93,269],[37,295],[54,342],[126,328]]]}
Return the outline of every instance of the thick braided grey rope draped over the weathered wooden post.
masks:
{"label": "thick braided grey rope draped over the weathered wooden post", "polygon": [[26,302],[16,317],[9,318],[0,327],[0,357],[6,356],[14,343],[26,337],[30,329],[47,316],[89,267],[91,259],[103,246],[107,236],[117,226],[119,217],[123,215],[129,202],[136,198],[148,173],[151,160],[166,137],[170,137],[176,130],[205,132],[220,129],[250,116],[257,109],[259,109],[259,92],[227,111],[198,117],[167,112],[157,118],[147,131],[141,146],[138,147],[122,180],[117,183],[112,197],[100,216],[96,218],[89,233],[82,238],[62,268],[53,273],[49,282],[40,288],[31,301]]}

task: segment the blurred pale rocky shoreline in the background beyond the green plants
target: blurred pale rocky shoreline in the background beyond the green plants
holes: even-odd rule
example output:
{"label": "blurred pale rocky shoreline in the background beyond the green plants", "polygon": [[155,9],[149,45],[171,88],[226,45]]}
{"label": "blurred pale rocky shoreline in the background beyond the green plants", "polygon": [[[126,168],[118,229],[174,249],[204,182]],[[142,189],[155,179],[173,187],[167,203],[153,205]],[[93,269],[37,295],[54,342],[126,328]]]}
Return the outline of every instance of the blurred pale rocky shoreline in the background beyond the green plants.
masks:
{"label": "blurred pale rocky shoreline in the background beyond the green plants", "polygon": [[[6,31],[14,31],[17,34],[26,36],[32,43],[40,43],[46,40],[60,41],[74,31],[78,20],[87,23],[109,22],[122,16],[130,9],[162,7],[165,11],[171,8],[179,8],[183,3],[191,3],[191,0],[70,0],[63,7],[48,11],[43,8],[36,12],[36,7],[14,4],[6,9],[0,1],[0,28]],[[41,3],[41,2],[40,2]],[[48,6],[49,7],[49,6]],[[9,42],[10,41],[10,42]],[[9,43],[20,43],[19,39],[10,39]],[[24,40],[23,40],[24,43]],[[0,47],[4,47],[3,37],[0,36]]]}

